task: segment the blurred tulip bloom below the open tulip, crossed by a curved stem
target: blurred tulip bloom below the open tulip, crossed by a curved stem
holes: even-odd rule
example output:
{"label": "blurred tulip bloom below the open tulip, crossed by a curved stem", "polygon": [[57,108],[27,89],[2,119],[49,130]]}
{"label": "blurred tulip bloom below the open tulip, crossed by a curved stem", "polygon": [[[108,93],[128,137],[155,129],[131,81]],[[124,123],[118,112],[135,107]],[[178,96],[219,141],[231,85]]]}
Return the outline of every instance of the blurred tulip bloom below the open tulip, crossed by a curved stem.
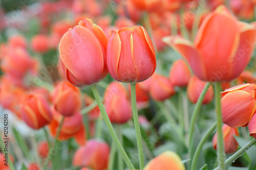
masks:
{"label": "blurred tulip bloom below the open tulip, crossed by a curved stem", "polygon": [[[187,85],[187,96],[190,102],[197,103],[197,100],[199,99],[199,96],[202,90],[204,89],[205,85],[206,85],[206,82],[198,79],[196,76],[192,76],[190,78]],[[210,103],[213,98],[214,98],[214,88],[210,86],[205,94],[202,104]]]}

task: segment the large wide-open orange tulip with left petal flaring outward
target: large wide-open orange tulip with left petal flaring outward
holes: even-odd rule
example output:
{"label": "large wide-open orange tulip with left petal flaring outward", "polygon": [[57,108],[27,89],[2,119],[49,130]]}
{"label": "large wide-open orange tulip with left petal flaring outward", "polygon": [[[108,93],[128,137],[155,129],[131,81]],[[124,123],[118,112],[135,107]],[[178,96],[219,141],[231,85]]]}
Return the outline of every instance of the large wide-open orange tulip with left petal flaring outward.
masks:
{"label": "large wide-open orange tulip with left petal flaring outward", "polygon": [[194,44],[181,37],[165,37],[203,81],[236,79],[254,51],[256,29],[239,22],[225,6],[218,7],[203,20]]}

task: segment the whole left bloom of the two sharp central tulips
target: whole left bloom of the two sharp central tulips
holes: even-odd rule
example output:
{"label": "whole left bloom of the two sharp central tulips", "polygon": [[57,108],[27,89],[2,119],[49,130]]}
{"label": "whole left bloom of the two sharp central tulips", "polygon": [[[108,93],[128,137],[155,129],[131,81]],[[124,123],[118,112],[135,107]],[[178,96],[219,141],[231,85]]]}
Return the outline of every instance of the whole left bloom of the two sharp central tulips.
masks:
{"label": "whole left bloom of the two sharp central tulips", "polygon": [[106,74],[106,38],[92,20],[79,22],[60,40],[59,54],[63,72],[74,86],[89,86],[100,82]]}

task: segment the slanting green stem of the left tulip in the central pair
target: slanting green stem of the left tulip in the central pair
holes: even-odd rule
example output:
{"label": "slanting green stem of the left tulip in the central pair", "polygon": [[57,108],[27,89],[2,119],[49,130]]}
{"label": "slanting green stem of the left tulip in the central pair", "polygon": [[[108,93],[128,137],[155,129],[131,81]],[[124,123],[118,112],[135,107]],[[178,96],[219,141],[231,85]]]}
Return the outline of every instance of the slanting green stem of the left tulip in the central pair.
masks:
{"label": "slanting green stem of the left tulip in the central pair", "polygon": [[122,155],[122,158],[123,158],[124,162],[126,163],[126,165],[129,167],[129,169],[135,169],[133,164],[132,164],[132,162],[131,162],[131,160],[129,159],[128,155],[124,151],[124,149],[122,147],[122,144],[120,143],[120,141],[119,141],[119,139],[118,139],[118,137],[117,137],[117,135],[115,133],[115,130],[114,130],[114,128],[113,128],[113,126],[112,126],[112,124],[110,122],[110,118],[109,118],[108,114],[106,113],[104,105],[103,105],[103,103],[102,103],[102,101],[100,99],[100,95],[99,95],[99,91],[97,89],[97,86],[93,85],[91,88],[92,88],[95,100],[98,103],[98,106],[99,106],[100,112],[102,114],[102,117],[104,119],[104,122],[106,124],[106,127],[108,128],[108,130],[110,132],[110,135],[111,135],[112,139],[114,140],[118,151]]}

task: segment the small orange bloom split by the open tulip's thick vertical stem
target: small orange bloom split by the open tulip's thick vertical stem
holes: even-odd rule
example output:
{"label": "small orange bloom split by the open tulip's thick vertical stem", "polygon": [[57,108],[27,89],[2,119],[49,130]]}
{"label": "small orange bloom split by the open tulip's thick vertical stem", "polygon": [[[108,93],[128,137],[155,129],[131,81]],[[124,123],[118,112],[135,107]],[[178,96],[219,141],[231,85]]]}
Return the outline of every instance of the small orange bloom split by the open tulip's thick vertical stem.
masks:
{"label": "small orange bloom split by the open tulip's thick vertical stem", "polygon": [[[230,128],[227,125],[223,125],[222,127],[223,139],[225,143],[225,153],[232,154],[238,149],[238,142],[234,136],[239,136],[239,132],[237,128]],[[217,142],[218,136],[217,133],[214,135],[212,139],[212,144],[214,145],[214,149],[217,150]]]}

